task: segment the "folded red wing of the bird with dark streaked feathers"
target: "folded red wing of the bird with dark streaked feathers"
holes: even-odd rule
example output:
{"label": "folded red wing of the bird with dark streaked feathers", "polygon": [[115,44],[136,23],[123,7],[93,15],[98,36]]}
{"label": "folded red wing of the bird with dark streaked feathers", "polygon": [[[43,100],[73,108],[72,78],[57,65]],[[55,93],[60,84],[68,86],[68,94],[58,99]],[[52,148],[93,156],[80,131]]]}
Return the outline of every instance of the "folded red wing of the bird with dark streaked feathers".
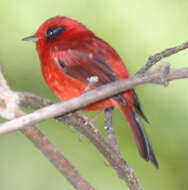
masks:
{"label": "folded red wing of the bird with dark streaked feathers", "polygon": [[[85,84],[88,84],[88,78],[97,76],[99,81],[93,87],[117,80],[115,72],[100,53],[92,54],[78,50],[64,50],[56,58],[56,62],[65,74]],[[120,94],[115,95],[113,98],[120,104],[126,104]]]}

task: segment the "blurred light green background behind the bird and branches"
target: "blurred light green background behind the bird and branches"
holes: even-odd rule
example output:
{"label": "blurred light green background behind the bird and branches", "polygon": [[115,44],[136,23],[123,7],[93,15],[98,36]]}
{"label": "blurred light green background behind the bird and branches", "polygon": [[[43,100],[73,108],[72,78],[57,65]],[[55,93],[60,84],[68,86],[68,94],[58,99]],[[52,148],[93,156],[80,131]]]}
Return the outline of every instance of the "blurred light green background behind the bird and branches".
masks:
{"label": "blurred light green background behind the bird and branches", "polygon": [[[32,35],[47,18],[66,15],[88,26],[120,54],[131,74],[149,55],[188,40],[187,0],[1,0],[0,64],[12,89],[34,92],[54,102],[40,72],[34,44],[21,41]],[[173,67],[188,65],[188,50],[164,61]],[[188,189],[188,88],[187,80],[168,87],[136,88],[151,126],[145,130],[160,169],[144,162],[120,112],[114,125],[123,157],[133,167],[144,189]],[[93,115],[93,113],[91,114]],[[90,115],[90,116],[91,116]],[[103,131],[104,117],[96,125]],[[86,138],[54,121],[41,130],[97,189],[127,189],[105,159]],[[20,132],[0,136],[0,189],[39,190],[73,187]]]}

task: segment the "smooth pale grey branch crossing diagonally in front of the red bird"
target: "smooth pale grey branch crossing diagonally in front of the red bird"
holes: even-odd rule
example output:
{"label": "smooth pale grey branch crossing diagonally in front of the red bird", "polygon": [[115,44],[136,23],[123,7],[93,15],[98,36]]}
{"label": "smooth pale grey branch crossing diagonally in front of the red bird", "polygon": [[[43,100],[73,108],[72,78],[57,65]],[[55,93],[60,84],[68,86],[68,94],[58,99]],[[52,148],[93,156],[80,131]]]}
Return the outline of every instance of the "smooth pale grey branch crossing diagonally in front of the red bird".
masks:
{"label": "smooth pale grey branch crossing diagonally in front of the red bird", "polygon": [[36,124],[59,115],[64,115],[72,111],[79,110],[91,103],[111,97],[125,90],[134,88],[140,84],[154,83],[167,85],[171,80],[188,78],[187,71],[188,68],[171,70],[168,63],[163,63],[160,65],[160,67],[152,72],[147,72],[139,76],[135,75],[129,79],[123,79],[100,86],[95,90],[89,91],[69,101],[47,106],[31,114],[1,124],[0,134],[15,131],[27,125]]}

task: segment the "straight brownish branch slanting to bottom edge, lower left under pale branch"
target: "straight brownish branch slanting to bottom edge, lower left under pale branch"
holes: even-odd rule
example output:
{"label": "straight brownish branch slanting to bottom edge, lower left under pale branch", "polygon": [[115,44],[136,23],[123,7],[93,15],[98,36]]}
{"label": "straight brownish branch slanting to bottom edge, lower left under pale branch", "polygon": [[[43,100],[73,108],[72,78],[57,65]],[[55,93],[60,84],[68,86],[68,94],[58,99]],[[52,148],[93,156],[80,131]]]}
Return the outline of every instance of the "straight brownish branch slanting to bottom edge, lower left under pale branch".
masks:
{"label": "straight brownish branch slanting to bottom edge, lower left under pale branch", "polygon": [[73,164],[59,152],[48,138],[35,126],[21,130],[35,146],[48,158],[48,160],[66,177],[77,190],[95,190],[78,172]]}

